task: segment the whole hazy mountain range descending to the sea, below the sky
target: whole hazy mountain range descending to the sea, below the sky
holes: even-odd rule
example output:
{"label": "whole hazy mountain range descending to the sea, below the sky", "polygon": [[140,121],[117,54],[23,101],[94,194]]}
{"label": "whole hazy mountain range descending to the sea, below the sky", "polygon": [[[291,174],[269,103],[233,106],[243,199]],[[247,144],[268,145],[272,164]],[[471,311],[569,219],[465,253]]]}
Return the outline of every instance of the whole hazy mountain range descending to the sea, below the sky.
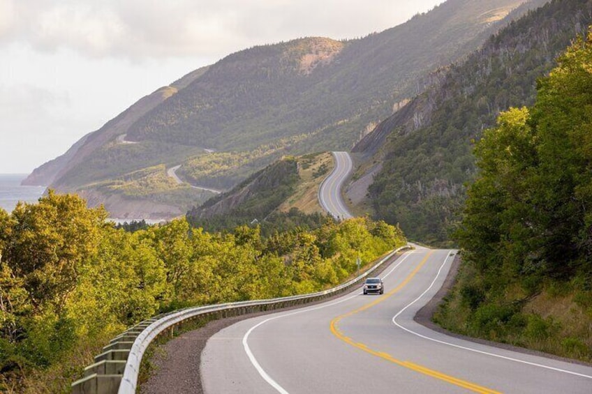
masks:
{"label": "whole hazy mountain range descending to the sea, below the sky", "polygon": [[[427,89],[432,70],[543,2],[449,0],[356,40],[301,38],[231,54],[142,98],[26,182],[182,209],[207,198],[191,185],[229,189],[287,153],[350,149]],[[185,184],[167,185],[162,166],[177,165]]]}

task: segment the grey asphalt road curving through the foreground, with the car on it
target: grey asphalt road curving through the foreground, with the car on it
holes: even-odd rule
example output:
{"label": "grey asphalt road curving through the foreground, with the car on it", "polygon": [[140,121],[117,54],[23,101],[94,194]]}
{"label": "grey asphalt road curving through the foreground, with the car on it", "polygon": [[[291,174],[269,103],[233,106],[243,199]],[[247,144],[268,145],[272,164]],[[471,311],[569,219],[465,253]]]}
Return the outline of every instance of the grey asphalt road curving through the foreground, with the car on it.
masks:
{"label": "grey asphalt road curving through the foreground, with the car on it", "polygon": [[333,301],[219,331],[201,358],[205,393],[586,393],[592,368],[489,347],[413,321],[452,264],[415,250],[381,275],[383,296]]}

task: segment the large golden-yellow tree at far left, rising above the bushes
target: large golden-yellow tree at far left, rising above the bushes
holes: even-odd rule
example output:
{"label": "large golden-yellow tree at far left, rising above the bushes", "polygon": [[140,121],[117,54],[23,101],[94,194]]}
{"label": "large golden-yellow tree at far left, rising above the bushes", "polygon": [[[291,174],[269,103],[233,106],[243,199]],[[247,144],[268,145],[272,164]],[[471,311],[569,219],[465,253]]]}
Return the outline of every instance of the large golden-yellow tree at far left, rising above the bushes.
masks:
{"label": "large golden-yellow tree at far left, rising above the bushes", "polygon": [[34,308],[64,307],[80,266],[96,253],[106,217],[103,208],[87,209],[80,197],[52,190],[38,204],[16,206],[3,231],[9,237],[3,259],[24,281]]}

